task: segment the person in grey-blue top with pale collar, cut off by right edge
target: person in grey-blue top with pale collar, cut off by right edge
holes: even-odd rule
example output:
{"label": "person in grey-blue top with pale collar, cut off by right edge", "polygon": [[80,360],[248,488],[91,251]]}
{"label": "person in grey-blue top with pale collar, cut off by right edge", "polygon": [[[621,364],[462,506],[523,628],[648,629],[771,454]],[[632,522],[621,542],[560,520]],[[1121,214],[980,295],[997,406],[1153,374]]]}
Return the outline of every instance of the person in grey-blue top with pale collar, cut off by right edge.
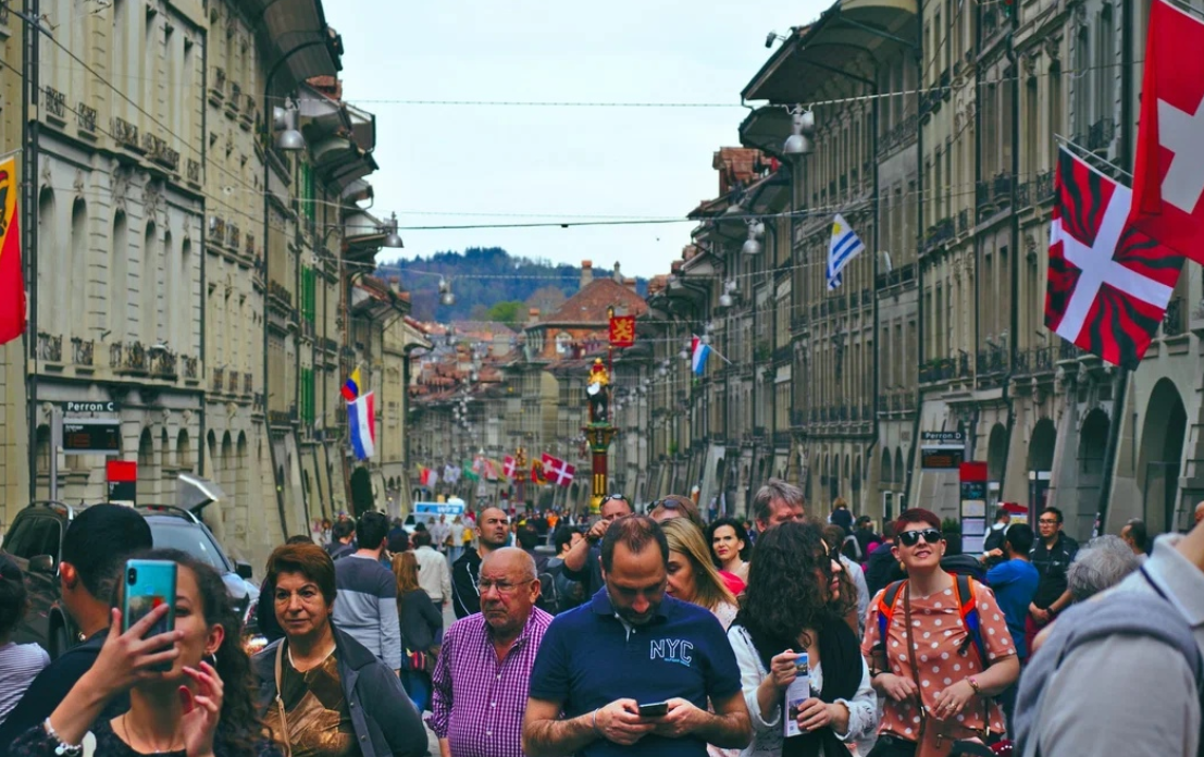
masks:
{"label": "person in grey-blue top with pale collar, cut off by right edge", "polygon": [[1073,605],[1028,661],[1016,755],[1204,755],[1204,524]]}

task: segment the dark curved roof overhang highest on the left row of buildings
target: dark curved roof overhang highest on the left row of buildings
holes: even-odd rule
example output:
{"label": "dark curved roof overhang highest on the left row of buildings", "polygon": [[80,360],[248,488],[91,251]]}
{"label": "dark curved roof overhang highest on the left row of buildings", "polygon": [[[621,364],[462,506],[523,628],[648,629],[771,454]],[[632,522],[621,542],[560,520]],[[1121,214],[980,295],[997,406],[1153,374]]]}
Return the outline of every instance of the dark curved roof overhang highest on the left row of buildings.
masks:
{"label": "dark curved roof overhang highest on the left row of buildings", "polygon": [[244,0],[241,5],[255,23],[268,67],[287,59],[271,83],[277,91],[342,71],[343,42],[326,25],[320,0]]}

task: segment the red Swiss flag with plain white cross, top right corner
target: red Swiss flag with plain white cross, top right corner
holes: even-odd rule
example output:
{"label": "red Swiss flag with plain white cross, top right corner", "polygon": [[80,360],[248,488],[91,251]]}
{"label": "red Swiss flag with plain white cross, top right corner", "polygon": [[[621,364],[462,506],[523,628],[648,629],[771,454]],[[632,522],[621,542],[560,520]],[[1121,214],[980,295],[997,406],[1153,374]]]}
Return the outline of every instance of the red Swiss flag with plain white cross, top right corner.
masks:
{"label": "red Swiss flag with plain white cross, top right corner", "polygon": [[1204,262],[1204,22],[1163,0],[1150,6],[1133,224]]}

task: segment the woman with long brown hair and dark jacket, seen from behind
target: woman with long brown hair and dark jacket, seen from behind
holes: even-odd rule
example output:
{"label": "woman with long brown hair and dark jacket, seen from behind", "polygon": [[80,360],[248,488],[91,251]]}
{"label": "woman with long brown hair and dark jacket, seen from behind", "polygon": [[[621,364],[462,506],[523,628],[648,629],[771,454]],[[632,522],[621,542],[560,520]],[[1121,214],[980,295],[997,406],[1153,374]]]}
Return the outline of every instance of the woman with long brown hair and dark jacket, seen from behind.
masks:
{"label": "woman with long brown hair and dark jacket, seen from behind", "polygon": [[[443,614],[430,596],[418,586],[418,558],[414,552],[393,557],[393,574],[397,576],[397,620],[401,625],[401,647],[406,658],[401,663],[401,682],[409,700],[421,712],[431,700],[431,673],[438,657],[443,635]],[[430,661],[430,666],[427,666]]]}

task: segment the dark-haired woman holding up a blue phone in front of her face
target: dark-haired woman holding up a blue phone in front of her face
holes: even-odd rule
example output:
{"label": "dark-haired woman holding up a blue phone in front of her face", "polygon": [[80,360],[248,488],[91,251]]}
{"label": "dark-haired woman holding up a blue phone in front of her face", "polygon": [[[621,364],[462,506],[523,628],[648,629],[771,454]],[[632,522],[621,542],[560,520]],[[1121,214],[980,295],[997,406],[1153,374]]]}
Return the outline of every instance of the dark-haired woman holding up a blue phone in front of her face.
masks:
{"label": "dark-haired woman holding up a blue phone in front of her face", "polygon": [[[278,756],[255,712],[238,616],[222,576],[176,550],[150,550],[137,557],[179,566],[175,629],[143,638],[167,615],[166,604],[125,632],[122,611],[113,609],[95,664],[45,723],[17,739],[10,755]],[[157,672],[159,664],[170,669]],[[98,720],[123,691],[130,693],[130,709],[112,720]]]}

